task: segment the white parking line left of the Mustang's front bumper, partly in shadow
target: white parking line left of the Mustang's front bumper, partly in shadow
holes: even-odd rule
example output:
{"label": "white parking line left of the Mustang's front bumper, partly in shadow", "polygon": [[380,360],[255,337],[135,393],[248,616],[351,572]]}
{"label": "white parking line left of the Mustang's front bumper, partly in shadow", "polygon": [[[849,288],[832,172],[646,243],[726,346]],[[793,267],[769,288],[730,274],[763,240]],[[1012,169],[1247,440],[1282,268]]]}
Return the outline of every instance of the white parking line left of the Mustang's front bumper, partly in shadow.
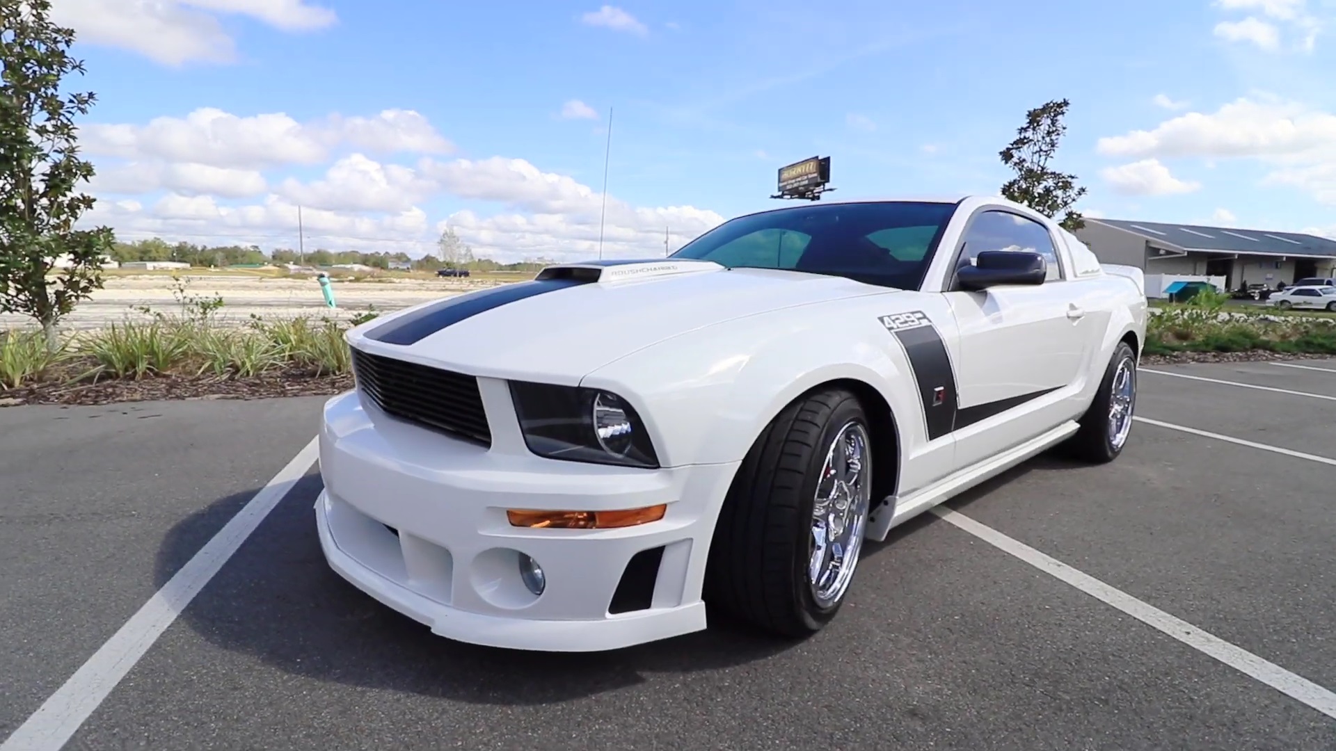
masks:
{"label": "white parking line left of the Mustang's front bumper, partly in shadow", "polygon": [[0,751],[57,751],[64,746],[269,512],[274,510],[278,501],[306,474],[318,452],[319,445],[311,438],[120,631],[0,744]]}

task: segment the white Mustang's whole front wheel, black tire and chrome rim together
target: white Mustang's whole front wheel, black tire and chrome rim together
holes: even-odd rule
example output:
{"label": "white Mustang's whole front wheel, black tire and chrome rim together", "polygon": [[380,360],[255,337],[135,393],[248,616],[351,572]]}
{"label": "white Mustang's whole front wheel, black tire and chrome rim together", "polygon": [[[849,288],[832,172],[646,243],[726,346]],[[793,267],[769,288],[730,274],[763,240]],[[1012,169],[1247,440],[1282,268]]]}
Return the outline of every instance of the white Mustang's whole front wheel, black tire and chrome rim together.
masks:
{"label": "white Mustang's whole front wheel, black tire and chrome rim together", "polygon": [[844,603],[872,489],[867,416],[844,389],[808,394],[743,460],[709,548],[709,603],[766,631],[807,636]]}

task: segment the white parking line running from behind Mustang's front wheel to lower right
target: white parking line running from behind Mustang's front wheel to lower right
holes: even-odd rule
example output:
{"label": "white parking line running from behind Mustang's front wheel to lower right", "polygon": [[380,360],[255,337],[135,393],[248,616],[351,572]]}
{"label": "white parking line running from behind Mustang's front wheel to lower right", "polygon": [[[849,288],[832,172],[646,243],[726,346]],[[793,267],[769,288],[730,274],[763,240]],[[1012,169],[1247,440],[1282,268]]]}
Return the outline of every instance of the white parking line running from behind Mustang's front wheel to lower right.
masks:
{"label": "white parking line running from behind Mustang's front wheel to lower right", "polygon": [[1025,543],[1013,540],[1006,535],[981,524],[961,512],[946,506],[937,506],[931,512],[965,532],[983,540],[985,543],[1010,553],[1034,568],[1075,587],[1081,592],[1128,613],[1129,616],[1161,631],[1178,641],[1197,649],[1198,652],[1220,660],[1221,663],[1253,678],[1272,688],[1303,702],[1319,712],[1336,719],[1336,694],[1317,686],[1316,683],[1295,675],[1285,668],[1269,663],[1241,647],[1236,647],[1218,636],[1213,636],[1190,623],[1174,617],[1153,605],[1149,605],[1126,592],[1116,589],[1098,579],[1082,573],[1067,564],[1053,559]]}

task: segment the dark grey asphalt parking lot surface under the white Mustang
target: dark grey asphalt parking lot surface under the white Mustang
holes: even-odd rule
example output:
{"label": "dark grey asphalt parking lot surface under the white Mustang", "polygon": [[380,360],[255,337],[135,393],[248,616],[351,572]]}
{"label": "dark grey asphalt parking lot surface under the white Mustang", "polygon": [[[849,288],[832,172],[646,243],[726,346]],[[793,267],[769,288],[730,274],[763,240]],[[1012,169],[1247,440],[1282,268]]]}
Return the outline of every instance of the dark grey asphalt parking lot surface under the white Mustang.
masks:
{"label": "dark grey asphalt parking lot surface under the white Mustang", "polygon": [[[1292,365],[1146,366],[1116,464],[1041,456],[900,528],[808,641],[719,623],[599,655],[434,637],[330,572],[319,476],[290,466],[322,398],[3,409],[0,751],[32,728],[65,748],[1332,751],[1336,359]],[[285,468],[162,617],[155,592]],[[132,617],[156,639],[118,636]],[[91,660],[128,671],[99,686]],[[1264,680],[1292,675],[1311,683]]]}

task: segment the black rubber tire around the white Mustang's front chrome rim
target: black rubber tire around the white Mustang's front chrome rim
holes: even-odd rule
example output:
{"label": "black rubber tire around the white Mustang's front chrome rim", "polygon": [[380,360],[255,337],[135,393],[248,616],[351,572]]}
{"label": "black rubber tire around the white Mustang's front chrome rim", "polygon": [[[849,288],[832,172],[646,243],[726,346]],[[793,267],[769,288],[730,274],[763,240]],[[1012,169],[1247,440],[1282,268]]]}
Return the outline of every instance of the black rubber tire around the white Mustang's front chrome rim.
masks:
{"label": "black rubber tire around the white Mustang's front chrome rim", "polygon": [[704,592],[711,605],[790,637],[810,636],[835,617],[848,587],[834,604],[820,607],[807,568],[819,476],[827,449],[850,421],[866,432],[863,482],[871,488],[871,428],[848,390],[827,389],[796,400],[756,438],[711,540]]}

